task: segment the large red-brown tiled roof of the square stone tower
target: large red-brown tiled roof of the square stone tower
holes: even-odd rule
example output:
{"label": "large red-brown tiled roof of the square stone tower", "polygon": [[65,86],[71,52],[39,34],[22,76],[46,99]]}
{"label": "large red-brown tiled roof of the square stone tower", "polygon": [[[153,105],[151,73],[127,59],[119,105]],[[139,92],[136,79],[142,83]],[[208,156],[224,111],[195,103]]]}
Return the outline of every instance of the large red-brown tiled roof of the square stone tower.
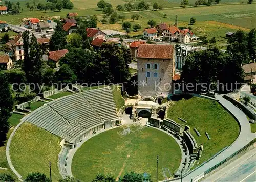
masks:
{"label": "large red-brown tiled roof of the square stone tower", "polygon": [[173,45],[140,44],[137,58],[173,59]]}

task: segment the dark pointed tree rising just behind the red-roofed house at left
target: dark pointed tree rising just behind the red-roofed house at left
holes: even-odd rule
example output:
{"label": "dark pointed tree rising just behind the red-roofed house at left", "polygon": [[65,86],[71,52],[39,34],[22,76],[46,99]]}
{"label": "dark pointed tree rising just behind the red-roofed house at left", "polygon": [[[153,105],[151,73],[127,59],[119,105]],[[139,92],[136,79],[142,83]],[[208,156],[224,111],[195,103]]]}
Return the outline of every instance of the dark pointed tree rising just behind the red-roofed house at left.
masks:
{"label": "dark pointed tree rising just behind the red-roofed house at left", "polygon": [[62,24],[57,23],[54,34],[50,39],[49,48],[51,51],[65,49],[67,46],[66,32],[62,29]]}

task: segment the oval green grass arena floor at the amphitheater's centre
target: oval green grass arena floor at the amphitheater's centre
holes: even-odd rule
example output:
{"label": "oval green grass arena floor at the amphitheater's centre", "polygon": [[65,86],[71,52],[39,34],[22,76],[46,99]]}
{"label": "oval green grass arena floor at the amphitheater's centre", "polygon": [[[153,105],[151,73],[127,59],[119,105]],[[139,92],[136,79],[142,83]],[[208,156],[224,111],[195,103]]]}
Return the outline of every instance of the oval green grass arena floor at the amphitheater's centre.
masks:
{"label": "oval green grass arena floor at the amphitheater's centre", "polygon": [[155,181],[157,154],[158,179],[163,180],[162,167],[168,167],[173,174],[180,164],[181,151],[175,140],[154,128],[122,126],[85,142],[74,155],[72,174],[88,182],[98,173],[110,173],[116,178],[119,173],[147,172]]}

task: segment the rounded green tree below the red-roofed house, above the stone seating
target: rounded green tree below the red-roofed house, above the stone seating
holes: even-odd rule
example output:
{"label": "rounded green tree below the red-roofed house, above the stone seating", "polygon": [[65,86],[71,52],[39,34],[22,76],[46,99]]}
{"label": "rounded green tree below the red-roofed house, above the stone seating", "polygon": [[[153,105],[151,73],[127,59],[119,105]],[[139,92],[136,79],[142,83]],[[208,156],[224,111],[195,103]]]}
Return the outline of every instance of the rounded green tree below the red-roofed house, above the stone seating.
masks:
{"label": "rounded green tree below the red-roofed house, above the stone seating", "polygon": [[59,71],[56,72],[56,77],[59,83],[68,84],[77,81],[77,76],[67,64],[63,64],[60,66]]}

